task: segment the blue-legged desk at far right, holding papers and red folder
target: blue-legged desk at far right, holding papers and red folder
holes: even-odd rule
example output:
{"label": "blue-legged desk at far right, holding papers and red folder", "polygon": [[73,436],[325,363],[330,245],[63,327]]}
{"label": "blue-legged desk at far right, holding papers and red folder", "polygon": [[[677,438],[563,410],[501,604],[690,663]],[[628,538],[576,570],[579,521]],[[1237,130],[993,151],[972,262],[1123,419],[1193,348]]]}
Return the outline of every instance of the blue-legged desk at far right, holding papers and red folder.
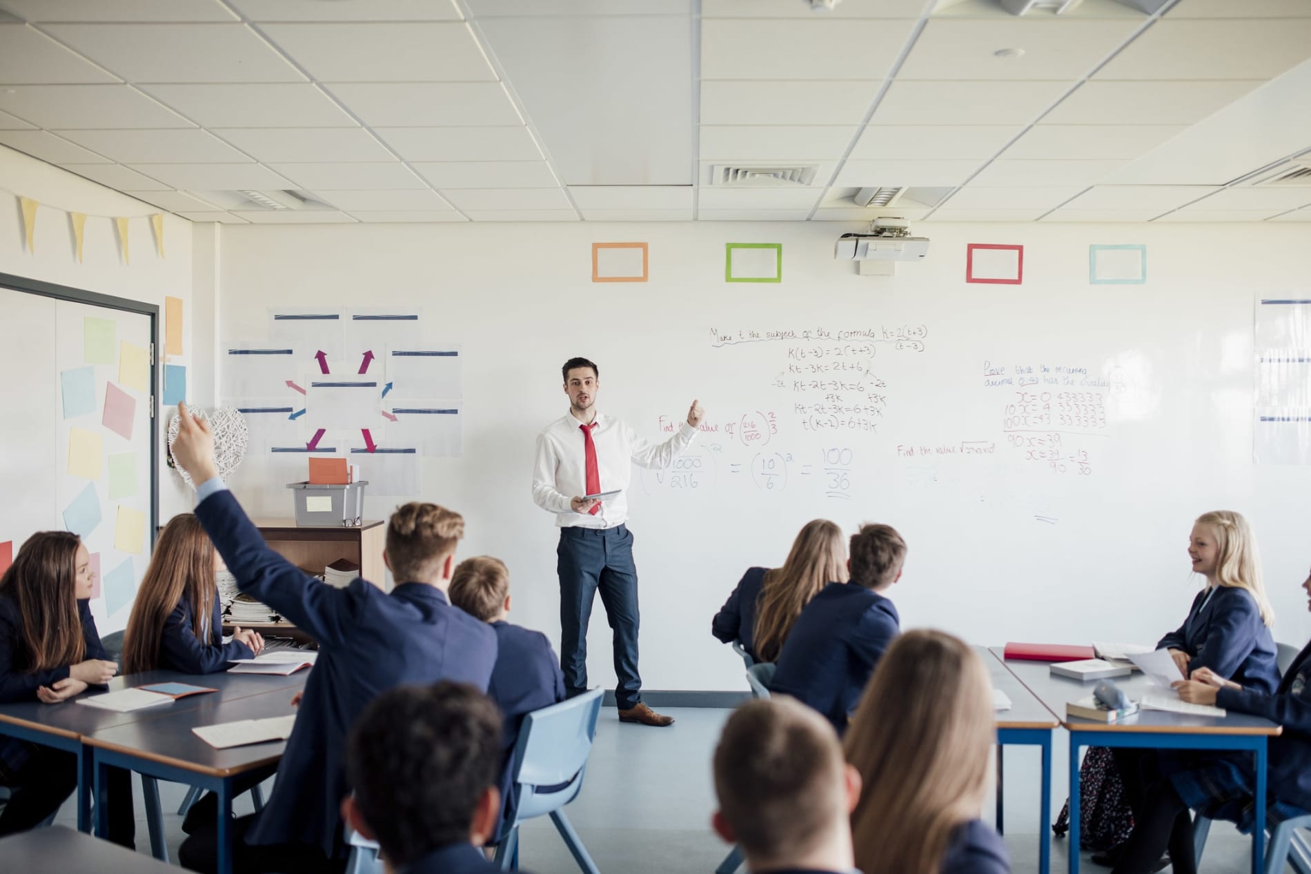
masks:
{"label": "blue-legged desk at far right, holding papers and red folder", "polygon": [[[992,654],[1003,659],[1002,647]],[[1065,705],[1092,694],[1095,681],[1053,676],[1050,662],[1004,662],[1061,719],[1070,732],[1070,874],[1079,874],[1079,750],[1082,747],[1145,747],[1152,750],[1242,750],[1256,760],[1256,822],[1265,823],[1266,743],[1283,729],[1269,719],[1242,713],[1224,717],[1193,717],[1163,710],[1141,710],[1122,722],[1110,725],[1067,717]],[[1151,688],[1151,680],[1139,672],[1114,677],[1116,685],[1137,700]],[[1252,874],[1261,874],[1264,828],[1252,829]]]}

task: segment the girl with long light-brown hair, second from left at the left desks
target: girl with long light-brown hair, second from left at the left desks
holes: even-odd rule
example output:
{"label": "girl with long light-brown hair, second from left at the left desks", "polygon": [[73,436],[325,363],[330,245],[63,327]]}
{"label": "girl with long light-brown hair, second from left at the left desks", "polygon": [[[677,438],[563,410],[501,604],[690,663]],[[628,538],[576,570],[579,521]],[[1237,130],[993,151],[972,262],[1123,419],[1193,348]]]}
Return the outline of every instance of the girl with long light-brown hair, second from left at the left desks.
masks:
{"label": "girl with long light-brown hair, second from left at the left desks", "polygon": [[173,516],[136,590],[123,634],[123,672],[215,674],[233,659],[254,658],[264,638],[237,628],[223,642],[223,611],[215,573],[223,567],[208,535],[193,514]]}

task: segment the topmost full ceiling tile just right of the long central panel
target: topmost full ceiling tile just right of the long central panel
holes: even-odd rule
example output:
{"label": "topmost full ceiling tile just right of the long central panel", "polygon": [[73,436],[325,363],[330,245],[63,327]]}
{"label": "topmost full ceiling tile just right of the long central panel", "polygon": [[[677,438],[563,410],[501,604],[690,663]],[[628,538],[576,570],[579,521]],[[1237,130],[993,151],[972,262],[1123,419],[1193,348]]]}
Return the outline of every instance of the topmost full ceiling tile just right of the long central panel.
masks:
{"label": "topmost full ceiling tile just right of the long central panel", "polygon": [[882,79],[912,18],[703,18],[701,79]]}

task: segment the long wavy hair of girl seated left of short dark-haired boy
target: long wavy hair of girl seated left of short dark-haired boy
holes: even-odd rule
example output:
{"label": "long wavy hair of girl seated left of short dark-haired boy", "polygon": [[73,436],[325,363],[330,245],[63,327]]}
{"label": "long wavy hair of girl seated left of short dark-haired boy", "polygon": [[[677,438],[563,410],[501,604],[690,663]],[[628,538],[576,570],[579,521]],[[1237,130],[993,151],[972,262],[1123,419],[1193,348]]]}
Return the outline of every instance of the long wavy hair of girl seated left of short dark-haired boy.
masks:
{"label": "long wavy hair of girl seated left of short dark-haired boy", "polygon": [[829,583],[847,582],[847,545],[842,528],[827,519],[808,522],[792,541],[783,567],[764,575],[755,618],[755,651],[773,662],[801,609]]}

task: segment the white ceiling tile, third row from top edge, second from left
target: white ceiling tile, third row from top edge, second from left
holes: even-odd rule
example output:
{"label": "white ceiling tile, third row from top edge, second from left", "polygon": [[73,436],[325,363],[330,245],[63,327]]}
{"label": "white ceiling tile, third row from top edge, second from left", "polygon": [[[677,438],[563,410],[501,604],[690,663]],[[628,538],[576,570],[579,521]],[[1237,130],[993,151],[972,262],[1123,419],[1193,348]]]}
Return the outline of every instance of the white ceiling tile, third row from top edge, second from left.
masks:
{"label": "white ceiling tile, third row from top edge, second from left", "polygon": [[355,123],[309,83],[140,88],[203,127],[342,127]]}

